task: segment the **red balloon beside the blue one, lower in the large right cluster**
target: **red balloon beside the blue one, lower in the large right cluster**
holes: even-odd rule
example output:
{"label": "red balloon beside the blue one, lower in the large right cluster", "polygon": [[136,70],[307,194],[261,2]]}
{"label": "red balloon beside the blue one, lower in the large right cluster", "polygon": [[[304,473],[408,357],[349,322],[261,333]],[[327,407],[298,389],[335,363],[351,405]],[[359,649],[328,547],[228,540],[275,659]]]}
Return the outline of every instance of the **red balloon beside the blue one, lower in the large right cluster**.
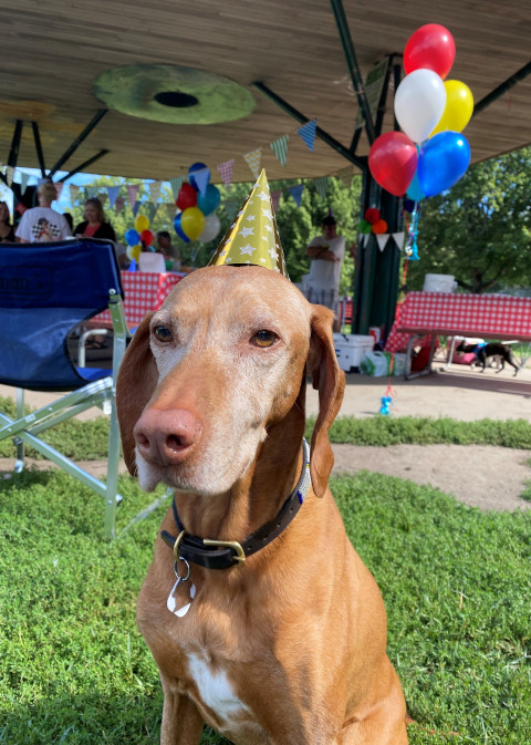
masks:
{"label": "red balloon beside the blue one, lower in the large right cluster", "polygon": [[368,167],[374,180],[400,197],[415,175],[417,148],[404,133],[386,132],[372,144]]}

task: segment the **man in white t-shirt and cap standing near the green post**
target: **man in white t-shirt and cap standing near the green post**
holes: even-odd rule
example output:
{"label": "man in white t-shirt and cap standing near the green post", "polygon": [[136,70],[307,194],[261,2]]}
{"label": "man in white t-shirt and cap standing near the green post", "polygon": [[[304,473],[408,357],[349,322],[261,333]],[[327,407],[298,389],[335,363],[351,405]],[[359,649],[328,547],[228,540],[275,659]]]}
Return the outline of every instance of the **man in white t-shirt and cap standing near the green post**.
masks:
{"label": "man in white t-shirt and cap standing near the green post", "polygon": [[309,302],[334,311],[334,331],[339,331],[337,301],[345,239],[337,235],[337,226],[332,215],[324,218],[322,227],[323,234],[313,238],[306,248],[312,263],[305,281],[305,296]]}

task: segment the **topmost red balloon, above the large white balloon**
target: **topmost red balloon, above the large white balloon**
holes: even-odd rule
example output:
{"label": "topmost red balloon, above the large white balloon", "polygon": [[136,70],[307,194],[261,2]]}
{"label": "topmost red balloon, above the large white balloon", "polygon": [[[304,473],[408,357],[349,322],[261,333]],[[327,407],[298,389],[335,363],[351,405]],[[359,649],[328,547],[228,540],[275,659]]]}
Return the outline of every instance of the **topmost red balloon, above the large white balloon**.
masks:
{"label": "topmost red balloon, above the large white balloon", "polygon": [[409,37],[404,50],[404,70],[409,75],[424,68],[433,70],[444,80],[455,58],[456,44],[448,29],[438,23],[427,23]]}

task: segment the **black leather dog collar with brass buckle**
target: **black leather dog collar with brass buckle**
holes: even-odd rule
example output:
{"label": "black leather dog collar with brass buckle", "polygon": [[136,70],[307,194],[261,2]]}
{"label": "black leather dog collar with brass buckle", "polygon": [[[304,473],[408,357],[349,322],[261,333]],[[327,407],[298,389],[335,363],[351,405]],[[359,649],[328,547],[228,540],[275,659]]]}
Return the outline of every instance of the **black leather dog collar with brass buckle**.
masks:
{"label": "black leather dog collar with brass buckle", "polygon": [[248,556],[268,546],[290,525],[304,501],[310,488],[310,448],[303,438],[302,473],[298,485],[280,508],[277,517],[266,522],[266,525],[248,536],[243,541],[211,540],[188,535],[177,514],[175,498],[171,507],[179,535],[175,538],[167,530],[163,530],[160,538],[173,549],[176,561],[185,559],[206,569],[229,569],[235,563],[243,563]]}

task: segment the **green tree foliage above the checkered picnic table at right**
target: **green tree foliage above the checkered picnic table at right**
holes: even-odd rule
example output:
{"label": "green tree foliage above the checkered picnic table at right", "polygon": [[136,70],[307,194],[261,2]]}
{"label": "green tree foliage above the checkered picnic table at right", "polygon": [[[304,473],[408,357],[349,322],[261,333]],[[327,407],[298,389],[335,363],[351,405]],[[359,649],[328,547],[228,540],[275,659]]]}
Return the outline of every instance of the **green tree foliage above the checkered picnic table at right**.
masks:
{"label": "green tree foliage above the checkered picnic table at right", "polygon": [[420,261],[407,287],[427,272],[454,275],[471,292],[531,284],[531,147],[471,166],[449,192],[421,201]]}

